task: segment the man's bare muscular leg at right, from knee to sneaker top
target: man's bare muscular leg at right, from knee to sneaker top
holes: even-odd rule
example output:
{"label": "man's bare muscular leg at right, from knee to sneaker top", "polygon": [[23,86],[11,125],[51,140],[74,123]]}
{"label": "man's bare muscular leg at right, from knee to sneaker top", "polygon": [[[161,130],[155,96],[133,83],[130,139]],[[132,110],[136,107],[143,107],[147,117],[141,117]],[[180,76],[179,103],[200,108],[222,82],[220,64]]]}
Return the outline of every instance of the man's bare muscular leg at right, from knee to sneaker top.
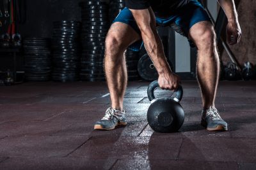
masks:
{"label": "man's bare muscular leg at right, from knee to sneaker top", "polygon": [[214,106],[220,74],[220,59],[216,48],[214,28],[211,22],[198,22],[189,31],[198,48],[197,79],[202,92],[204,110]]}

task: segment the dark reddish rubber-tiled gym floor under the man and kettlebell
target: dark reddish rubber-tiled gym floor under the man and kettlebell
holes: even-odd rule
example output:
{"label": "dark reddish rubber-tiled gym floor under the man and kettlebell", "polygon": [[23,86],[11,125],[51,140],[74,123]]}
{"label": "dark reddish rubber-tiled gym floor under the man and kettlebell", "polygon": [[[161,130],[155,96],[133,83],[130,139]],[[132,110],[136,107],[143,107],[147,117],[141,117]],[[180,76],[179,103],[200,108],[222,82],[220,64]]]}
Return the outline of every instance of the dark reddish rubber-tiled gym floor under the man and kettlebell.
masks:
{"label": "dark reddish rubber-tiled gym floor under the man and kettlebell", "polygon": [[0,169],[256,169],[256,81],[220,82],[216,108],[227,132],[200,126],[200,90],[183,81],[186,118],[170,134],[147,124],[148,84],[129,82],[129,124],[113,131],[93,131],[109,106],[105,82],[1,87]]}

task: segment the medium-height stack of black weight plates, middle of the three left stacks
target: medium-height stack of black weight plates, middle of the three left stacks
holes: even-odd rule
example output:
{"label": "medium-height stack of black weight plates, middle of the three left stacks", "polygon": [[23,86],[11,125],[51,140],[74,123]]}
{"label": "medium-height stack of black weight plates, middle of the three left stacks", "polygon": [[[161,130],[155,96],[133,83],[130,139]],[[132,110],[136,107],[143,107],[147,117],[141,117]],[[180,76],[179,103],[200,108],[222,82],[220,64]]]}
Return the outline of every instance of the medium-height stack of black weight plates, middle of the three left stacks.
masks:
{"label": "medium-height stack of black weight plates, middle of the three left stacks", "polygon": [[79,80],[81,23],[57,21],[53,23],[53,31],[52,80],[61,82]]}

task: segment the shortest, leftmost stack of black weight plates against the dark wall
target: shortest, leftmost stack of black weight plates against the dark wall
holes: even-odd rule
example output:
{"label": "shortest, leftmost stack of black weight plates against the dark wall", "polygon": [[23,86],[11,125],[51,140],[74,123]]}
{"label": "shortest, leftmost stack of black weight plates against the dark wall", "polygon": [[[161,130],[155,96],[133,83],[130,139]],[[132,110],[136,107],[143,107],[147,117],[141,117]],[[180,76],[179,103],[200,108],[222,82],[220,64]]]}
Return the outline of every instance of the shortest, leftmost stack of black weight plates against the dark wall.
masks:
{"label": "shortest, leftmost stack of black weight plates against the dark wall", "polygon": [[26,80],[51,80],[50,40],[47,38],[26,38],[23,42]]}

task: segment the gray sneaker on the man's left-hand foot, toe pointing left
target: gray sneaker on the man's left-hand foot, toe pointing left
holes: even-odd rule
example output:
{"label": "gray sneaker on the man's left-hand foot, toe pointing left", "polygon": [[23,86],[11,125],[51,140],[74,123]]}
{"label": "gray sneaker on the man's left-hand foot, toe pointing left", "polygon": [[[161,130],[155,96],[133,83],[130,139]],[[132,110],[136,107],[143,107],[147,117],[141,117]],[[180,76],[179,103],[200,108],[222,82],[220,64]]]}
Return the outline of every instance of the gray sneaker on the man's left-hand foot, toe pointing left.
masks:
{"label": "gray sneaker on the man's left-hand foot, toe pointing left", "polygon": [[127,125],[125,111],[115,110],[114,108],[108,108],[108,110],[105,113],[105,116],[95,123],[94,129],[112,130],[115,129],[115,127],[118,125]]}

